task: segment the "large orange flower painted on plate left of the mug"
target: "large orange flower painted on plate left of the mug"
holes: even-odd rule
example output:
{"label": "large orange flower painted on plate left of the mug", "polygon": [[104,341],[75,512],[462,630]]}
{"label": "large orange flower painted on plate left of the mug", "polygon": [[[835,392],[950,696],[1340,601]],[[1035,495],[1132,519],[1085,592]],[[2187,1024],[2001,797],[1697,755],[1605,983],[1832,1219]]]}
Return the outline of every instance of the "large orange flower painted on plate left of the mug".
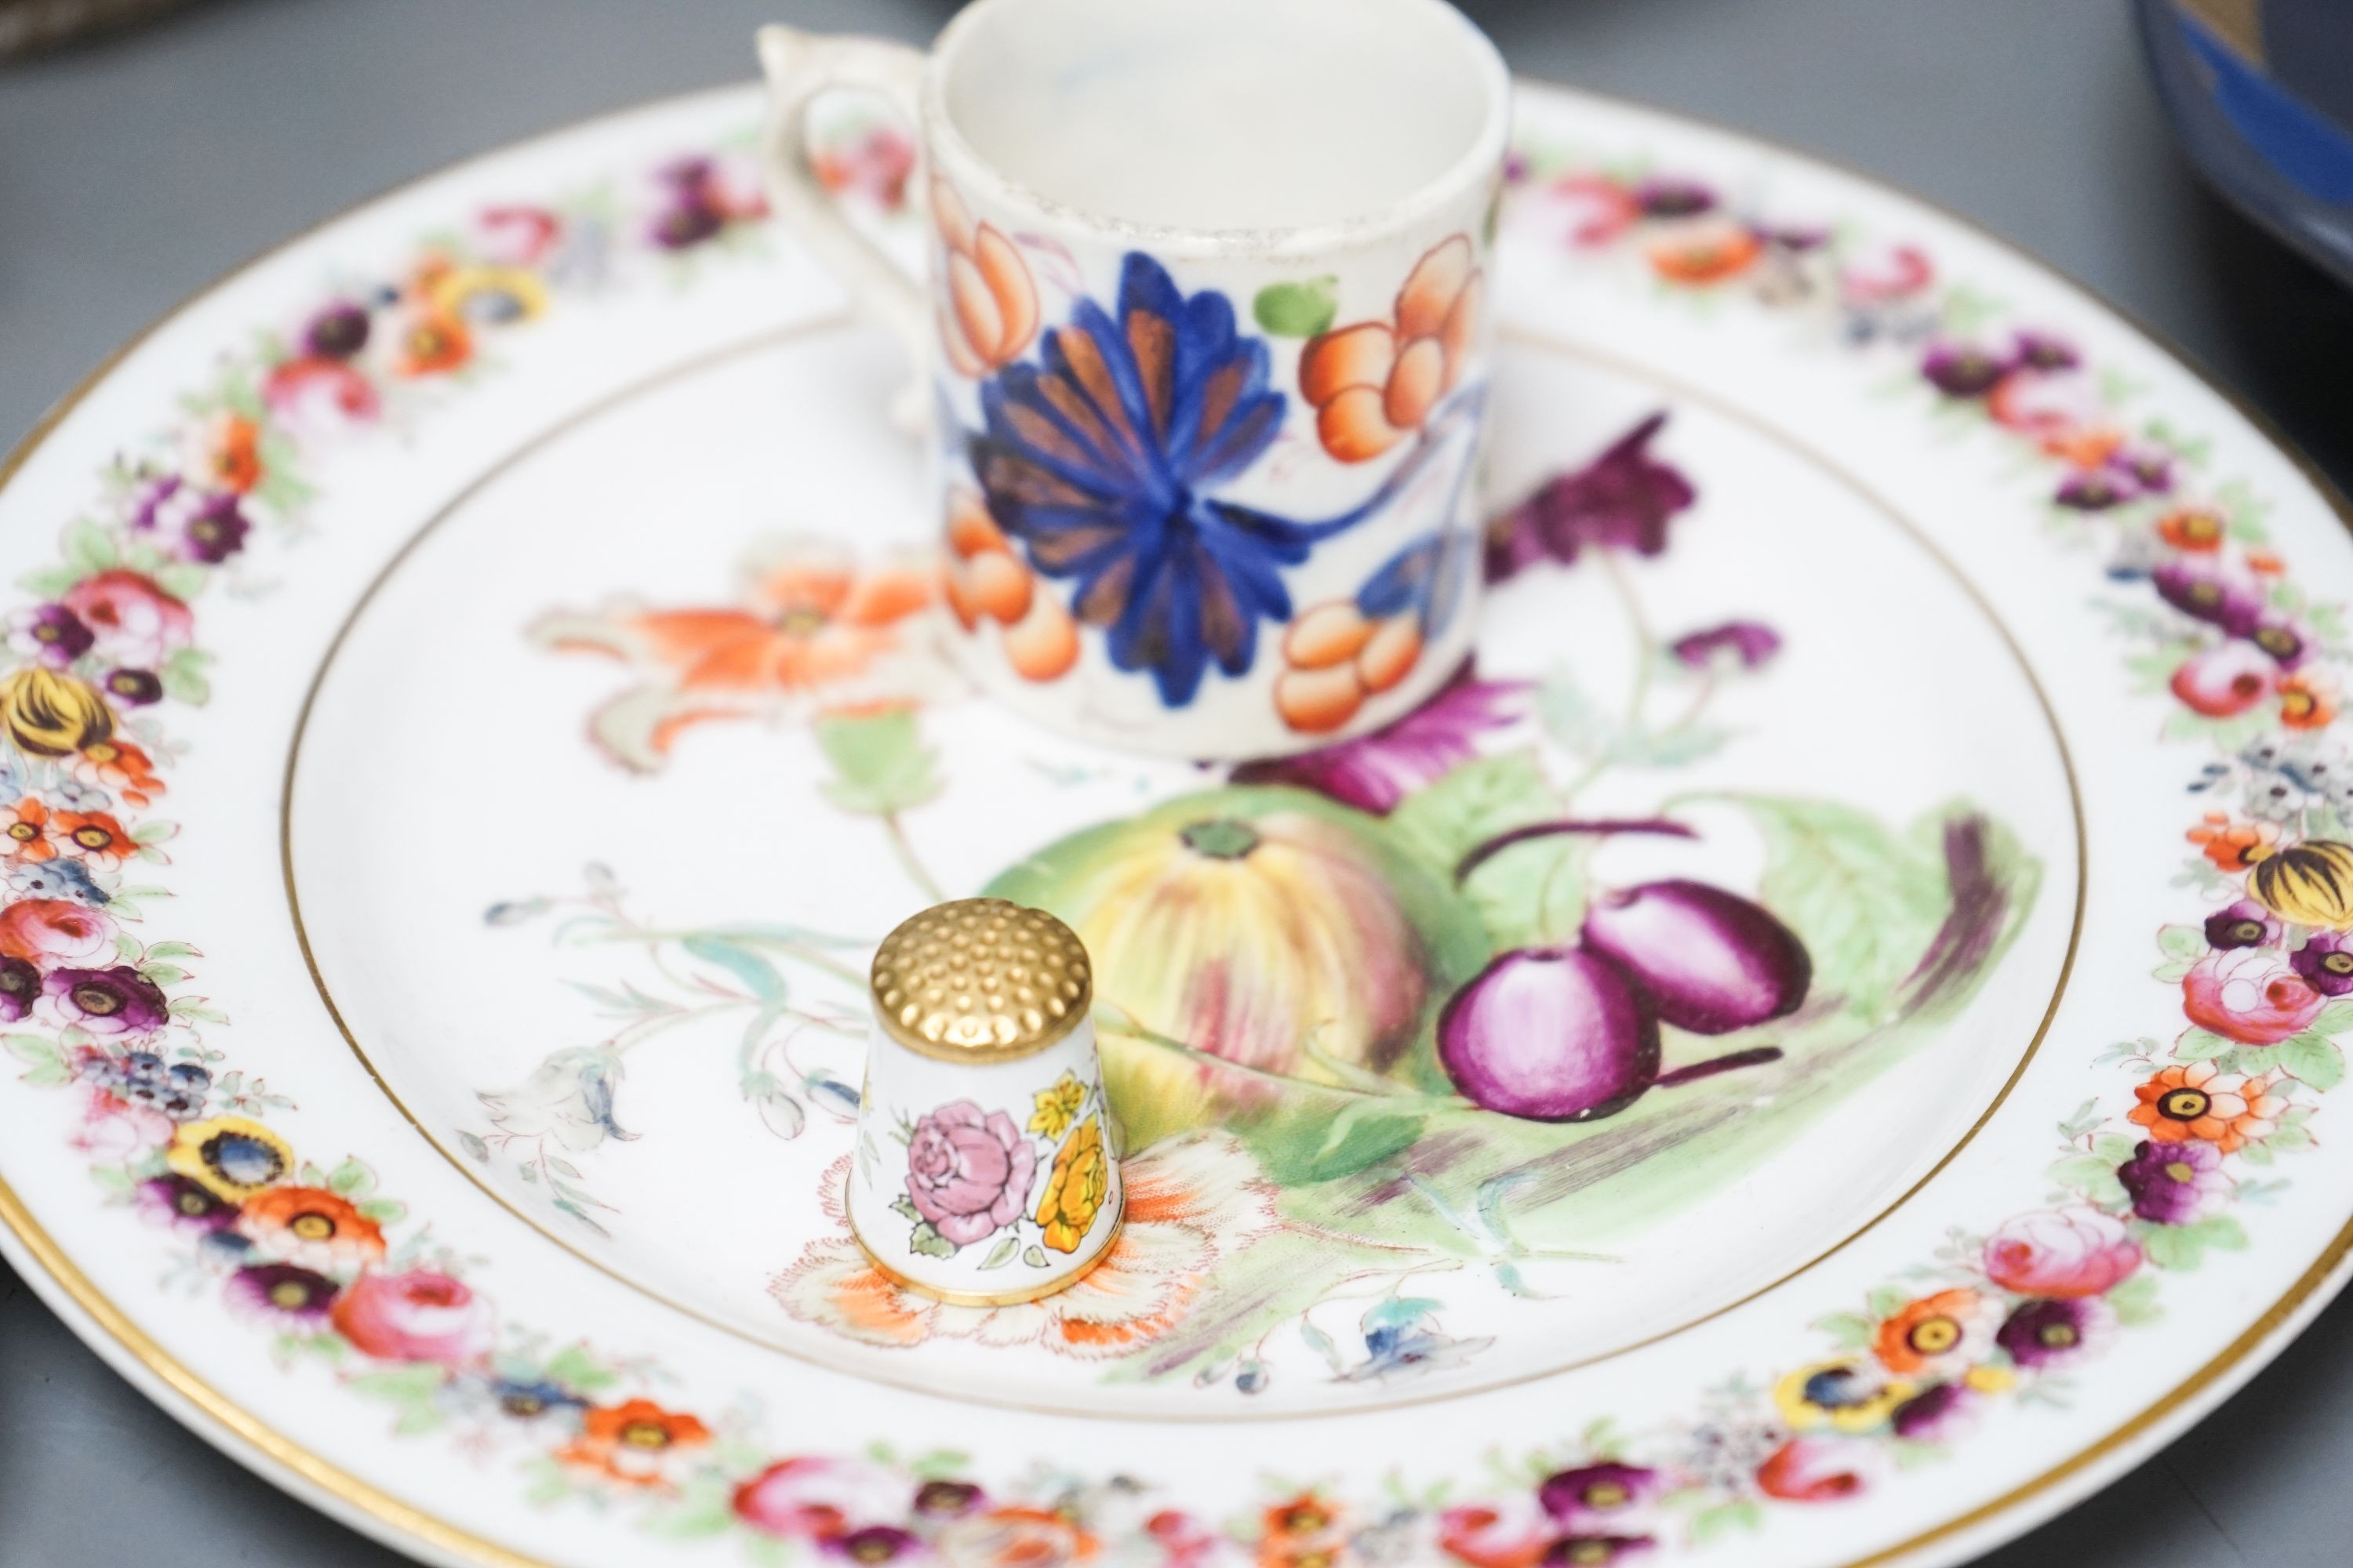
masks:
{"label": "large orange flower painted on plate left of the mug", "polygon": [[840,543],[786,538],[746,562],[741,604],[558,611],[532,635],[645,675],[595,712],[591,733],[616,762],[652,771],[682,729],[706,719],[920,703],[939,684],[939,663],[911,632],[934,585],[927,562],[861,567]]}

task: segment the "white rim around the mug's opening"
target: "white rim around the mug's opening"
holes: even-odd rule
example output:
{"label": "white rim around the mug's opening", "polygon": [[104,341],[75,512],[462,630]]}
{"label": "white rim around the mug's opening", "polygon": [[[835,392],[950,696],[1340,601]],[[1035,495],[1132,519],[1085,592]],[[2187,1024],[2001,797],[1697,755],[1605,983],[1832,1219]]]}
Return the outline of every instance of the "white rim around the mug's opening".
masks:
{"label": "white rim around the mug's opening", "polygon": [[1151,249],[1165,256],[1301,256],[1372,244],[1417,228],[1428,221],[1431,214],[1457,200],[1466,188],[1487,179],[1489,172],[1501,169],[1504,153],[1511,143],[1511,68],[1504,63],[1504,54],[1494,47],[1494,40],[1487,38],[1485,28],[1447,0],[1381,0],[1384,5],[1417,9],[1424,14],[1442,14],[1461,28],[1464,49],[1471,56],[1473,71],[1487,87],[1485,118],[1478,134],[1471,139],[1471,146],[1442,172],[1384,207],[1325,223],[1207,228],[1186,223],[1144,223],[1078,207],[1045,195],[984,158],[948,113],[948,66],[955,59],[955,52],[993,14],[1028,2],[1031,0],[972,0],[948,19],[948,26],[939,31],[939,38],[934,38],[929,52],[925,52],[920,129],[929,143],[932,172],[936,174],[939,165],[946,162],[955,167],[962,179],[986,181],[988,186],[995,186],[1002,197],[1033,209],[1042,219],[1068,223],[1127,247]]}

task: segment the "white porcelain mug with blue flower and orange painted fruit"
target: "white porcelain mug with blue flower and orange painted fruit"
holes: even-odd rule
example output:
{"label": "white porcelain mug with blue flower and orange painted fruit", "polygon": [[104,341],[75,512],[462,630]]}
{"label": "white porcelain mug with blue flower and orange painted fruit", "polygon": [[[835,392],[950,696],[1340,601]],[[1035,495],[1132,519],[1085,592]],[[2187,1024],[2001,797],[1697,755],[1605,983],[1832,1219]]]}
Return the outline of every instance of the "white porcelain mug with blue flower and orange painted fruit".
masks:
{"label": "white porcelain mug with blue flower and orange painted fruit", "polygon": [[[974,0],[929,54],[760,33],[774,207],[929,381],[984,691],[1202,759],[1412,710],[1471,646],[1508,75],[1442,0]],[[809,169],[920,125],[929,275]]]}

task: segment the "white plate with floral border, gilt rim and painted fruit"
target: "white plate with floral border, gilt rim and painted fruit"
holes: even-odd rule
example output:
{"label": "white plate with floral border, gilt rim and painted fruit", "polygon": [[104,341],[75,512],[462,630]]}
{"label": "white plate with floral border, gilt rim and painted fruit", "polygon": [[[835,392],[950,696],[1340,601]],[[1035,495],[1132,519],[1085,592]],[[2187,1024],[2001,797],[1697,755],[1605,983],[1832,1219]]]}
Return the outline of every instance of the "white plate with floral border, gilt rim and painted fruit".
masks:
{"label": "white plate with floral border, gilt rim and painted fruit", "polygon": [[[2341,1284],[2353,552],[2106,308],[1527,87],[1482,684],[1226,778],[835,604],[922,597],[922,454],[755,118],[384,197],[7,470],[0,1244],[198,1432],[435,1561],[1927,1563]],[[913,247],[894,139],[838,153]],[[1612,830],[1506,837],[1560,818]],[[1118,1255],[934,1309],[833,1208],[856,978],[984,886],[1162,1039],[1111,1041]],[[1774,1016],[1657,1070],[1729,1070],[1480,1110],[1602,1044],[1574,966],[1704,1023],[1727,922]],[[1649,1072],[1593,1060],[1555,1114]]]}

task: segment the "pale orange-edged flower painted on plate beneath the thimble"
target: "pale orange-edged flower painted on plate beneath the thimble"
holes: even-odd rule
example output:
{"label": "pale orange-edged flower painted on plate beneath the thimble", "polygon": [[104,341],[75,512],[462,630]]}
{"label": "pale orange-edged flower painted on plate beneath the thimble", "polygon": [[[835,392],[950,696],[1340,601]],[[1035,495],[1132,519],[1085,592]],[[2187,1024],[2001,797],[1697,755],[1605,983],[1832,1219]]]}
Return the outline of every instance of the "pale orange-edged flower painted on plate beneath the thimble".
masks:
{"label": "pale orange-edged flower painted on plate beneath the thimble", "polygon": [[896,1286],[849,1239],[842,1211],[845,1154],[819,1201],[835,1234],[812,1241],[769,1284],[795,1319],[866,1345],[922,1345],[932,1335],[981,1345],[1042,1345],[1061,1356],[1125,1356],[1174,1331],[1212,1265],[1275,1229],[1275,1190],[1226,1133],[1155,1143],[1120,1166],[1127,1220],[1085,1279],[1016,1307],[941,1307]]}

